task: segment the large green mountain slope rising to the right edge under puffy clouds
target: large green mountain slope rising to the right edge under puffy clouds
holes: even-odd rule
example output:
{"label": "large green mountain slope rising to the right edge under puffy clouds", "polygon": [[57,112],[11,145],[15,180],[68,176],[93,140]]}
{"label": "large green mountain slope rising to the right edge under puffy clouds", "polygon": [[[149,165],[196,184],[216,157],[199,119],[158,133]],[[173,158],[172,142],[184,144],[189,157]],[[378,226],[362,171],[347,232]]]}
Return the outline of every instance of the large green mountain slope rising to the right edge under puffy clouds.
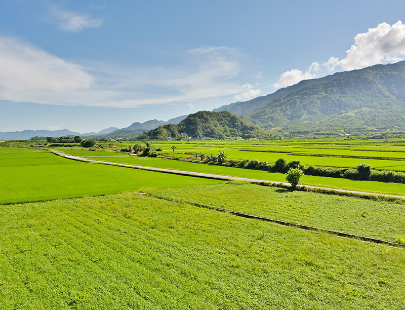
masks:
{"label": "large green mountain slope rising to the right edge under puffy clouds", "polygon": [[405,129],[405,61],[302,81],[228,108],[265,129]]}

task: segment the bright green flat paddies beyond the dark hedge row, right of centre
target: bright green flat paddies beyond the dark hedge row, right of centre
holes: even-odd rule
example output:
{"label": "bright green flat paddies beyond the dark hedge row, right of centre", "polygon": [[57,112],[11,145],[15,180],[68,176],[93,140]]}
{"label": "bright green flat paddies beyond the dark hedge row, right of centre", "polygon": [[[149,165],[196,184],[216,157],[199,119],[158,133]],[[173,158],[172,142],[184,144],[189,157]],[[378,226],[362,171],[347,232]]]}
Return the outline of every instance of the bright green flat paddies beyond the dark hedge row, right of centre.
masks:
{"label": "bright green flat paddies beyond the dark hedge row, right of centre", "polygon": [[[329,140],[312,141],[190,141],[179,143],[167,141],[156,143],[171,155],[170,147],[175,145],[176,153],[217,153],[225,150],[231,159],[257,159],[274,163],[279,158],[288,162],[298,160],[303,165],[354,168],[367,163],[378,170],[405,171],[405,141],[378,140]],[[141,142],[138,142],[141,143]]]}

